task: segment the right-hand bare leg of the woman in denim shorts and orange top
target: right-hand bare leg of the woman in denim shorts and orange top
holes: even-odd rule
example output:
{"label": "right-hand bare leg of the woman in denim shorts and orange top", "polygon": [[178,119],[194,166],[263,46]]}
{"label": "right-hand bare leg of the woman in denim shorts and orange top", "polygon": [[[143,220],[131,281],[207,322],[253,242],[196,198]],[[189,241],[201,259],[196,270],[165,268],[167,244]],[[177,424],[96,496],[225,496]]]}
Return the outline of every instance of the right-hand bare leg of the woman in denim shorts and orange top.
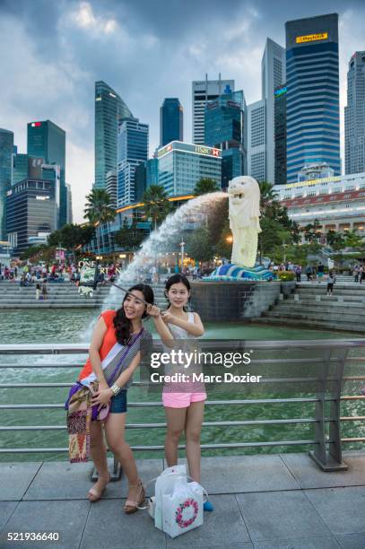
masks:
{"label": "right-hand bare leg of the woman in denim shorts and orange top", "polygon": [[125,440],[126,414],[109,414],[105,423],[105,433],[109,449],[123,467],[130,486],[128,499],[135,501],[138,494],[138,473],[135,457]]}

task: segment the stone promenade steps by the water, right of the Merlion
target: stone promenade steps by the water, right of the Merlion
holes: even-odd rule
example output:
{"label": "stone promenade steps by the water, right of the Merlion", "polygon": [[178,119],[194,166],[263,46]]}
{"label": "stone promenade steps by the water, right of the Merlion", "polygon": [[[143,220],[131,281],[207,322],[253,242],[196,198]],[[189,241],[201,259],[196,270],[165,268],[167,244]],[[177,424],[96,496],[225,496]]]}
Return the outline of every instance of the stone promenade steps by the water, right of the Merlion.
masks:
{"label": "stone promenade steps by the water, right of the Merlion", "polygon": [[326,295],[326,281],[297,284],[294,294],[278,301],[254,322],[365,333],[365,284],[335,283]]}

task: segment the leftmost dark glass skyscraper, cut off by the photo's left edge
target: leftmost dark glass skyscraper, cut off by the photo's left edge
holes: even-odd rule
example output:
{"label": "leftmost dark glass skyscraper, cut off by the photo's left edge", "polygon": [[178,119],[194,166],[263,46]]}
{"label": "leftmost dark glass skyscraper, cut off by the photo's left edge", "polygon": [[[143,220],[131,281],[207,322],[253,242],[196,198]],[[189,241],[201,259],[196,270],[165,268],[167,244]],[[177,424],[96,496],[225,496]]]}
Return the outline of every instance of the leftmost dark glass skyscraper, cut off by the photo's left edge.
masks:
{"label": "leftmost dark glass skyscraper, cut off by the photo's left edge", "polygon": [[0,240],[6,240],[6,195],[12,183],[13,132],[0,128]]}

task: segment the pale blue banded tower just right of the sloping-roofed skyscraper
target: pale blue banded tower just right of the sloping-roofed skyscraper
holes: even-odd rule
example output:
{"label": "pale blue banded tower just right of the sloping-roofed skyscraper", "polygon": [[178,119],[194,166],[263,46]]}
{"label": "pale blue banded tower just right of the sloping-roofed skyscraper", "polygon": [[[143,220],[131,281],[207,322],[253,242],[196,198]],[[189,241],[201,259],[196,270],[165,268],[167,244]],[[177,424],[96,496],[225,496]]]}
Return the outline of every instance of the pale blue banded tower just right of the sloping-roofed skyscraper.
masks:
{"label": "pale blue banded tower just right of the sloping-roofed skyscraper", "polygon": [[135,202],[135,168],[148,158],[148,124],[126,118],[117,146],[117,207]]}

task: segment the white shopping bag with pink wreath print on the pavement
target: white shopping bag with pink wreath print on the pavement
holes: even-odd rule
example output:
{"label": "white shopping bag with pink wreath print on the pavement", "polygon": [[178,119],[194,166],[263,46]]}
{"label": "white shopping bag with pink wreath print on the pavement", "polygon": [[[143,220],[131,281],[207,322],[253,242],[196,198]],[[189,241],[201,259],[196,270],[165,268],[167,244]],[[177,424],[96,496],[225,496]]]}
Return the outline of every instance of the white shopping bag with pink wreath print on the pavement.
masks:
{"label": "white shopping bag with pink wreath print on the pavement", "polygon": [[162,529],[170,537],[177,537],[202,525],[203,488],[179,478],[172,493],[162,493]]}

